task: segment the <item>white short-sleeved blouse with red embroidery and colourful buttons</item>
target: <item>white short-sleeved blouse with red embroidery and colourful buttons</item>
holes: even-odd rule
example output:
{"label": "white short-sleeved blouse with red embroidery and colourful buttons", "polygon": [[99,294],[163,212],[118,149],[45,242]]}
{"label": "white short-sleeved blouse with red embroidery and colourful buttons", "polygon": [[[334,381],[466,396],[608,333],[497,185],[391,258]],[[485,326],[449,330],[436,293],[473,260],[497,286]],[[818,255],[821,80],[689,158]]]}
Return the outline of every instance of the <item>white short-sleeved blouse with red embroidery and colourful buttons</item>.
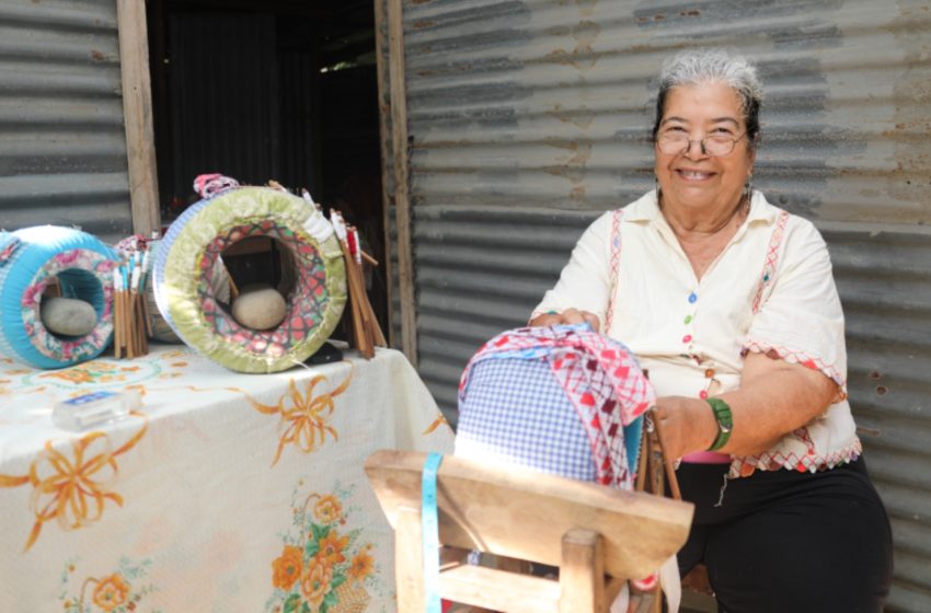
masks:
{"label": "white short-sleeved blouse with red embroidery and colourful buttons", "polygon": [[732,458],[731,476],[818,471],[861,452],[847,402],[843,312],[827,245],[807,220],[754,193],[744,224],[697,280],[656,193],[599,217],[532,317],[589,311],[627,344],[657,395],[708,397],[739,386],[747,351],[819,370],[835,403],[759,456]]}

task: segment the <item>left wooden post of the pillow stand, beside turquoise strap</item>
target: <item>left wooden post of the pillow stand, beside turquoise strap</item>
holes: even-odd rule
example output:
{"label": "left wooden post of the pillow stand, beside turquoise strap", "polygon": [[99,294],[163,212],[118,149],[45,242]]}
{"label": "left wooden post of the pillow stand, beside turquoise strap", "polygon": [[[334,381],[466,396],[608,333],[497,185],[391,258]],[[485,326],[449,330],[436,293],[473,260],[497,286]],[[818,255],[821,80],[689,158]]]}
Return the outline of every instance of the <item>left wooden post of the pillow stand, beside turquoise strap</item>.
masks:
{"label": "left wooden post of the pillow stand, beside turquoise strap", "polygon": [[426,610],[421,510],[399,508],[394,524],[394,586],[398,611]]}

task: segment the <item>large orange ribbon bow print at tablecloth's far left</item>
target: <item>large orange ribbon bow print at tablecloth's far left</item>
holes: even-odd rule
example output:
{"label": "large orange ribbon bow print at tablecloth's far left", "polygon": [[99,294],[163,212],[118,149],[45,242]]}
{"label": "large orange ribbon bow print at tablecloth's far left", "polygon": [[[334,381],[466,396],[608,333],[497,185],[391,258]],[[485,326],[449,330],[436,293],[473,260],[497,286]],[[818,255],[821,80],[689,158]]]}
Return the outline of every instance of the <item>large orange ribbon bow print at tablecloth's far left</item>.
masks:
{"label": "large orange ribbon bow print at tablecloth's far left", "polygon": [[111,490],[119,472],[116,458],[133,449],[148,428],[143,414],[135,410],[130,414],[146,423],[115,451],[103,432],[90,432],[72,440],[70,454],[55,449],[48,440],[30,466],[28,475],[0,475],[0,487],[33,486],[30,508],[36,522],[25,550],[36,542],[46,521],[54,519],[62,530],[76,530],[99,520],[106,500],[123,506],[123,497]]}

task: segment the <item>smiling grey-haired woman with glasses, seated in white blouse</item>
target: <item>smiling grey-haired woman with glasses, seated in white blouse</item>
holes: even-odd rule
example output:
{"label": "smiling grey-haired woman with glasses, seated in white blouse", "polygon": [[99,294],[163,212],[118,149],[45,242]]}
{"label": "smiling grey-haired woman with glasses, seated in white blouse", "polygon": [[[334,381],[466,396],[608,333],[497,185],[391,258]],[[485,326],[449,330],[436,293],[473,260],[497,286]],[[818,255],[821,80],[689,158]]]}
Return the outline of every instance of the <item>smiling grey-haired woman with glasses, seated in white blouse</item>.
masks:
{"label": "smiling grey-haired woman with glasses, seated in white blouse", "polygon": [[751,188],[752,66],[688,51],[664,66],[656,188],[583,234],[531,325],[588,322],[640,358],[681,459],[721,610],[882,611],[892,536],[846,394],[843,314],[815,227]]}

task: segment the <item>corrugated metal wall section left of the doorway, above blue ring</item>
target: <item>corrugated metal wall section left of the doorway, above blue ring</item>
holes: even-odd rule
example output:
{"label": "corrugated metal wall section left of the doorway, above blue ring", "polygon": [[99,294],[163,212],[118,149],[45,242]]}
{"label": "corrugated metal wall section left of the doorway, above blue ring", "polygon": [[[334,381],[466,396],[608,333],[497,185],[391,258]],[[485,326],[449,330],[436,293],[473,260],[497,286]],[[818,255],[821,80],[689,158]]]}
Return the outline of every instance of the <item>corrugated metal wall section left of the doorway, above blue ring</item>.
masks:
{"label": "corrugated metal wall section left of the doorway, above blue ring", "polygon": [[133,229],[115,0],[0,2],[0,228]]}

